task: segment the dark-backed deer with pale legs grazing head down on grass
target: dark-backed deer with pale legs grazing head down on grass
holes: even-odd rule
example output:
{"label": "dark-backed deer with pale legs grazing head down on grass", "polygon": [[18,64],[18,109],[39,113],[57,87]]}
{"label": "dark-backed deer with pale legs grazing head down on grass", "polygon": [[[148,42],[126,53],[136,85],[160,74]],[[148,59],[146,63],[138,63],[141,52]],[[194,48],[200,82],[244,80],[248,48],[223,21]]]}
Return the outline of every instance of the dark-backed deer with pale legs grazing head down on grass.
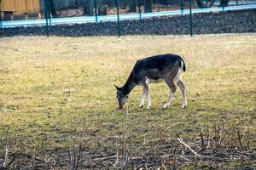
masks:
{"label": "dark-backed deer with pale legs grazing head down on grass", "polygon": [[163,105],[163,109],[166,109],[171,104],[177,89],[176,85],[182,91],[182,108],[186,108],[186,88],[181,81],[182,71],[186,71],[185,62],[176,54],[162,54],[137,60],[130,76],[125,82],[125,85],[121,88],[114,85],[117,89],[116,97],[119,101],[119,109],[123,108],[126,99],[128,99],[128,95],[131,93],[131,90],[137,85],[143,85],[143,99],[140,108],[143,108],[145,105],[145,98],[148,97],[147,109],[150,109],[151,101],[149,97],[149,83],[158,82],[166,82],[167,86],[171,90],[171,94],[167,99],[166,104]]}

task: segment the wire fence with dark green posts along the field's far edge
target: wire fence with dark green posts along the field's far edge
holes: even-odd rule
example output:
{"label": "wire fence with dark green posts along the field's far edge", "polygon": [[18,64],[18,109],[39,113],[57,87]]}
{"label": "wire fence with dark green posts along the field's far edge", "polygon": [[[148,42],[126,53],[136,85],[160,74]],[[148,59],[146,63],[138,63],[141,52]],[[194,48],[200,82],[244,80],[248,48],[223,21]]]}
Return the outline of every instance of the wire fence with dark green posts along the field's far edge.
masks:
{"label": "wire fence with dark green posts along the field's far edge", "polygon": [[[110,0],[109,0],[110,1]],[[101,0],[88,0],[90,4],[73,6],[58,11],[53,10],[55,4],[51,0],[44,0],[38,14],[25,13],[24,16],[15,16],[15,9],[3,10],[3,2],[0,5],[0,28],[16,26],[45,26],[45,34],[49,36],[49,29],[55,25],[74,25],[83,23],[98,23],[105,21],[116,22],[116,33],[121,36],[121,20],[143,20],[151,17],[188,15],[189,14],[189,34],[193,35],[193,14],[223,12],[239,9],[256,8],[256,1],[230,1],[229,5],[212,0],[173,0],[172,3],[159,3],[153,0],[135,0],[133,3],[126,3],[122,0],[111,0],[102,3]],[[148,2],[148,3],[147,3]],[[164,2],[164,1],[162,1]],[[42,2],[41,2],[42,3]],[[113,5],[114,4],[114,5]],[[56,7],[55,7],[56,8]],[[4,16],[3,16],[4,14]]]}

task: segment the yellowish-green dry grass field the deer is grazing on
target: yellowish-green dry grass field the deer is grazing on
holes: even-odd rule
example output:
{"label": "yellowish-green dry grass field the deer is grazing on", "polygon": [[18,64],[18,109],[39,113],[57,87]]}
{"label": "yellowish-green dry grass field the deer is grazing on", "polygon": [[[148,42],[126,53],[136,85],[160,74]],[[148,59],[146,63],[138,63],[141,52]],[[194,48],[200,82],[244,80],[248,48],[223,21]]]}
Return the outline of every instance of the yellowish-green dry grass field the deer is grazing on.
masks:
{"label": "yellowish-green dry grass field the deer is grazing on", "polygon": [[[137,87],[125,105],[126,123],[125,109],[117,110],[113,84],[125,82],[137,59],[166,53],[179,54],[186,62],[188,108],[181,109],[178,89],[172,105],[162,110],[169,90],[160,83],[150,86],[152,108],[138,109],[142,88]],[[0,41],[0,136],[5,138],[9,126],[9,135],[28,152],[45,141],[49,149],[67,148],[71,137],[90,148],[112,150],[113,139],[124,131],[130,147],[144,139],[153,144],[167,127],[169,139],[177,134],[193,139],[201,129],[223,122],[229,127],[235,121],[255,149],[255,113],[256,34]],[[20,150],[19,142],[11,143],[10,151]]]}

